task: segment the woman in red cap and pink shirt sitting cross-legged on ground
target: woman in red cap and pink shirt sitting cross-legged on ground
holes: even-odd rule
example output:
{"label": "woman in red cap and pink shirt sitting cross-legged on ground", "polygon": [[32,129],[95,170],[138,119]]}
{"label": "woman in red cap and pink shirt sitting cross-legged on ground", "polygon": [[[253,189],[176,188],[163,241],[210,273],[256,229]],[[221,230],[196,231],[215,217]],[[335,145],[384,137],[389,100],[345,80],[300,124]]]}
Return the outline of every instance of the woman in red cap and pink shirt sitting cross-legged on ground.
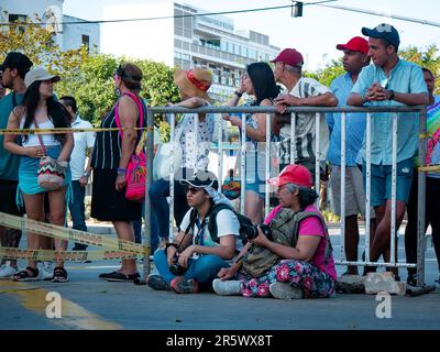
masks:
{"label": "woman in red cap and pink shirt sitting cross-legged on ground", "polygon": [[[324,220],[314,206],[318,195],[310,188],[310,172],[302,165],[288,165],[270,183],[278,187],[279,199],[279,206],[265,220],[271,233],[266,228],[266,235],[258,228],[257,237],[246,243],[239,260],[220,270],[220,278],[213,280],[215,292],[244,297],[272,294],[283,299],[331,297],[337,273]],[[306,215],[310,217],[301,220]],[[231,277],[238,279],[227,280]]]}

